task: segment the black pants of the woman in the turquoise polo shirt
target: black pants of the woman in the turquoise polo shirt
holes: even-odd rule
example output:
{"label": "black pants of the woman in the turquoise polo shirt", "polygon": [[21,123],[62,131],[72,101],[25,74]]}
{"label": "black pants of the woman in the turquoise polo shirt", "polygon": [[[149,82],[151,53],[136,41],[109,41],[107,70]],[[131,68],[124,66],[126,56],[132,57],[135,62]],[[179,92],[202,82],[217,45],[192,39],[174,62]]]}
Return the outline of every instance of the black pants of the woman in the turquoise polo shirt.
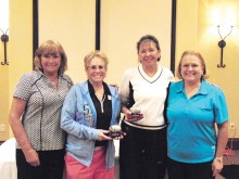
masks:
{"label": "black pants of the woman in the turquoise polo shirt", "polygon": [[188,164],[167,158],[167,171],[169,179],[214,179],[212,162]]}

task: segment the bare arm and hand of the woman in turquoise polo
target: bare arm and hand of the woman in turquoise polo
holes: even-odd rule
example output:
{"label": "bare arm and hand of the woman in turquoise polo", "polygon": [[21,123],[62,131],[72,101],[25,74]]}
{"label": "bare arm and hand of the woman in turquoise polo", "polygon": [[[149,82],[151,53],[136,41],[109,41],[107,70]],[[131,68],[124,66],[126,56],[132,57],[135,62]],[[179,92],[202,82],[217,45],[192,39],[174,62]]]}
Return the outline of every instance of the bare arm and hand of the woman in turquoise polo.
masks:
{"label": "bare arm and hand of the woman in turquoise polo", "polygon": [[212,164],[213,176],[216,176],[223,169],[223,153],[227,144],[228,139],[228,123],[217,125],[218,135],[217,135],[217,148],[216,156]]}

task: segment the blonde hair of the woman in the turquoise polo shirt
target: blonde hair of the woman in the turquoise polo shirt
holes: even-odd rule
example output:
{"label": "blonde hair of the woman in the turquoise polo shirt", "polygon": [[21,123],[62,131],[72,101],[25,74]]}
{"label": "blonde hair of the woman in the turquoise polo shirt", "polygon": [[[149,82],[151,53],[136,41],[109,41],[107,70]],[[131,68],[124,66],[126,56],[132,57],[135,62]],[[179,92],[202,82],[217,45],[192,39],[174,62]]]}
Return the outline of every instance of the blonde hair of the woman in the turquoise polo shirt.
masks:
{"label": "blonde hair of the woman in the turquoise polo shirt", "polygon": [[178,64],[177,71],[176,71],[176,76],[177,76],[179,79],[183,79],[183,77],[181,77],[181,61],[183,61],[183,59],[184,59],[186,55],[194,55],[194,56],[197,56],[197,57],[200,60],[200,63],[201,63],[201,65],[202,65],[202,71],[203,71],[203,74],[202,74],[202,76],[201,76],[201,79],[206,79],[206,78],[209,78],[207,69],[206,69],[206,66],[205,66],[205,61],[204,61],[204,59],[202,57],[201,53],[196,52],[196,51],[192,51],[192,50],[187,50],[187,51],[185,51],[185,52],[181,54],[181,57],[180,57],[180,61],[179,61],[179,64]]}

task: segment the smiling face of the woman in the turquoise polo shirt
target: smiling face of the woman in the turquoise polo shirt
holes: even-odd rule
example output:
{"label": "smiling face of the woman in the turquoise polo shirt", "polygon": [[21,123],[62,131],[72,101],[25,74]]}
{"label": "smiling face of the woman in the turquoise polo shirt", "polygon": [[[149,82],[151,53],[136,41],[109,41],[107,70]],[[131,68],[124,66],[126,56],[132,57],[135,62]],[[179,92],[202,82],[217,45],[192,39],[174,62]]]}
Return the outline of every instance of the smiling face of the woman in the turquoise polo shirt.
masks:
{"label": "smiling face of the woman in the turquoise polo shirt", "polygon": [[187,54],[180,62],[180,75],[186,82],[200,82],[203,75],[201,60],[193,54]]}

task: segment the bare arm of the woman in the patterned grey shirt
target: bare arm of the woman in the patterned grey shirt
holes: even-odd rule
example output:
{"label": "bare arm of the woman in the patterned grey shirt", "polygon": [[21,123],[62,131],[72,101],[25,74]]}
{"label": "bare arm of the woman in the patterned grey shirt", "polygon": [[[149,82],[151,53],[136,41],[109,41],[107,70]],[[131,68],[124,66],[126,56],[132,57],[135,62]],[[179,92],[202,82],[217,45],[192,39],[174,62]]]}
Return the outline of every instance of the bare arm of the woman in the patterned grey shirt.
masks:
{"label": "bare arm of the woman in the patterned grey shirt", "polygon": [[38,166],[40,165],[38,154],[32,148],[27,135],[25,132],[25,129],[20,120],[25,106],[26,106],[25,100],[14,98],[10,111],[9,123],[18,145],[21,146],[25,155],[26,162],[33,166]]}

